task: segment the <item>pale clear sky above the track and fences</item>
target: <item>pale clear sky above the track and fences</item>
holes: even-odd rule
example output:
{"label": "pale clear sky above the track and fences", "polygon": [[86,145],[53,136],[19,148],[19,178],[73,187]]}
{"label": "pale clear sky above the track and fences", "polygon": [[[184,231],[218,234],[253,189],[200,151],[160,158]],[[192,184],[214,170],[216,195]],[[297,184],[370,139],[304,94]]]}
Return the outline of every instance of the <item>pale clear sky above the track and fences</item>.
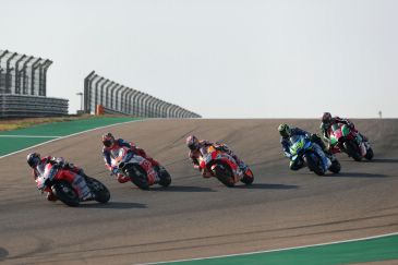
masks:
{"label": "pale clear sky above the track and fences", "polygon": [[398,118],[395,0],[0,0],[0,49],[91,71],[204,118]]}

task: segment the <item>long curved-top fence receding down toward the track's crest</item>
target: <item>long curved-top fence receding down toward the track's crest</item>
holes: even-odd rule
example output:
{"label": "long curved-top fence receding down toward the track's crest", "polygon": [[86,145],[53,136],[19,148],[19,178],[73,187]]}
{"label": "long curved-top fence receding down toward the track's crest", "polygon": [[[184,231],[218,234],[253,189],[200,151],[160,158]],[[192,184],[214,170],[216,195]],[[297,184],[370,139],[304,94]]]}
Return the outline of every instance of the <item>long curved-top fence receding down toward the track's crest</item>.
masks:
{"label": "long curved-top fence receding down toward the track's crest", "polygon": [[120,85],[93,71],[84,79],[84,110],[93,113],[96,106],[118,113],[146,118],[201,118],[180,106],[146,93]]}

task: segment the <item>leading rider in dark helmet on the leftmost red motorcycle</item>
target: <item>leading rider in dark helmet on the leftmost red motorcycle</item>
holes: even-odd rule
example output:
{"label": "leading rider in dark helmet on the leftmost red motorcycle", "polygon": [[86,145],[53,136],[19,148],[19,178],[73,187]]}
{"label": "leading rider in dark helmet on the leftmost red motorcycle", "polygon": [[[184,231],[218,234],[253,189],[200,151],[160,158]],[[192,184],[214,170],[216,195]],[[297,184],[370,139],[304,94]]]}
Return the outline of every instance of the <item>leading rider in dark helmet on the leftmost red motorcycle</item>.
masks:
{"label": "leading rider in dark helmet on the leftmost red motorcycle", "polygon": [[[88,186],[87,186],[87,183],[85,182],[84,178],[79,178],[79,177],[85,177],[83,169],[74,166],[71,162],[67,162],[63,157],[46,156],[46,157],[41,158],[40,154],[31,153],[27,155],[26,161],[29,165],[29,167],[33,169],[33,177],[35,180],[39,177],[45,176],[46,166],[48,164],[53,165],[55,168],[61,168],[61,169],[69,170],[70,172],[73,173],[73,179],[76,180],[72,184],[74,184],[74,186],[76,189],[79,189],[82,194],[84,194],[83,200],[92,196],[92,193],[89,192],[89,190],[87,190]],[[51,172],[47,172],[47,173],[51,173]],[[47,193],[47,200],[52,201],[52,202],[57,201],[57,196],[52,193],[51,189]]]}

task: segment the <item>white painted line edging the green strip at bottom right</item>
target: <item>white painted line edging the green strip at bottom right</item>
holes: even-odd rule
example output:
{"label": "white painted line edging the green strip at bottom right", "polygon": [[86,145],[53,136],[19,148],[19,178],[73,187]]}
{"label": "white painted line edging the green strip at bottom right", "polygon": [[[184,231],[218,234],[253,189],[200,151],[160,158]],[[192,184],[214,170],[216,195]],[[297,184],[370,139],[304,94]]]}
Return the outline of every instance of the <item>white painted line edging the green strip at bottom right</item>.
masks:
{"label": "white painted line edging the green strip at bottom right", "polygon": [[262,254],[262,253],[270,253],[270,252],[279,252],[279,251],[289,251],[289,250],[306,249],[306,248],[312,248],[312,246],[322,246],[322,245],[339,244],[339,243],[349,243],[349,242],[364,241],[364,240],[370,240],[370,239],[378,239],[378,238],[397,236],[397,234],[398,234],[398,232],[393,232],[393,233],[385,233],[385,234],[373,236],[373,237],[367,237],[367,238],[359,238],[359,239],[349,239],[349,240],[334,241],[334,242],[328,242],[328,243],[307,244],[307,245],[300,245],[300,246],[292,246],[292,248],[285,248],[285,249],[275,249],[275,250],[267,250],[267,251],[257,251],[257,252],[248,252],[248,253],[231,254],[231,255],[196,257],[196,258],[191,258],[191,260],[177,260],[177,261],[156,262],[156,263],[141,263],[141,264],[137,264],[137,265],[153,265],[153,264],[166,264],[166,263],[176,263],[176,262],[191,262],[191,261],[201,261],[201,260],[213,260],[213,258],[221,258],[221,257],[230,257],[230,256],[244,256],[244,255],[252,255],[252,254]]}

